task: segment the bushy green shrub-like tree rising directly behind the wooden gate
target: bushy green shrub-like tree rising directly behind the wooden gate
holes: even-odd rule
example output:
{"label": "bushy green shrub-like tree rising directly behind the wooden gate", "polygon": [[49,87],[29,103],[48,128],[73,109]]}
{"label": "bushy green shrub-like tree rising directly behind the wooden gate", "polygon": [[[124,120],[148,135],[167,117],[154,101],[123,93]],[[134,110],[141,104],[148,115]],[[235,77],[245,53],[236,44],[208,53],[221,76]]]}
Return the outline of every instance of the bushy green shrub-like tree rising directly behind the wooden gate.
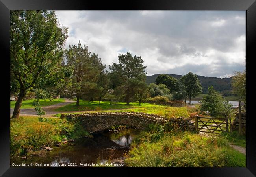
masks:
{"label": "bushy green shrub-like tree rising directly behind the wooden gate", "polygon": [[204,96],[200,110],[210,111],[211,116],[228,115],[232,112],[232,105],[228,101],[223,100],[221,94],[213,89],[213,86],[208,87],[208,95]]}

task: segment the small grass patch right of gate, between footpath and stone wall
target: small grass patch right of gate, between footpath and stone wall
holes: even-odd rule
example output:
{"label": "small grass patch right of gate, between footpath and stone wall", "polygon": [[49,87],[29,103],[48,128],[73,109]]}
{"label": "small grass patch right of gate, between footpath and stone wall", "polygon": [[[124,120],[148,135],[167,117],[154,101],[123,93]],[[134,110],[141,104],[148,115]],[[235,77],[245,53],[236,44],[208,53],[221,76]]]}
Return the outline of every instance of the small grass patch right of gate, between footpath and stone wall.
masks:
{"label": "small grass patch right of gate, between footpath and stone wall", "polygon": [[233,131],[231,133],[221,133],[221,136],[228,140],[231,144],[246,147],[246,136],[239,135],[238,131]]}

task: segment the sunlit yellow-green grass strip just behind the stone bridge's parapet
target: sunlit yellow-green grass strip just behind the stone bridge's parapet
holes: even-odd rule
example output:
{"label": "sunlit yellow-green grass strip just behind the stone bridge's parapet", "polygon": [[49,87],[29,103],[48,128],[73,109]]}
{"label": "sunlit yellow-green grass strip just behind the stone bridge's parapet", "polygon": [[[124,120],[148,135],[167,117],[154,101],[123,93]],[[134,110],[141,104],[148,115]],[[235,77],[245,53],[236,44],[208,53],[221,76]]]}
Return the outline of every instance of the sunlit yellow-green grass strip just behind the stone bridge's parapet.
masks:
{"label": "sunlit yellow-green grass strip just behind the stone bridge's parapet", "polygon": [[[67,105],[67,106],[70,106],[70,105]],[[122,105],[117,105],[117,106],[122,107]],[[192,113],[197,112],[197,108],[191,108],[191,107],[169,107],[169,106],[163,106],[163,105],[153,105],[149,103],[141,103],[141,107],[139,108],[136,108],[136,106],[137,106],[136,104],[131,105],[130,107],[132,107],[132,109],[122,109],[122,110],[98,109],[90,112],[143,112],[148,114],[157,114],[159,116],[165,116],[165,117],[189,117],[191,116]],[[79,112],[74,114],[79,114]],[[60,117],[61,113],[55,114],[54,116]]]}

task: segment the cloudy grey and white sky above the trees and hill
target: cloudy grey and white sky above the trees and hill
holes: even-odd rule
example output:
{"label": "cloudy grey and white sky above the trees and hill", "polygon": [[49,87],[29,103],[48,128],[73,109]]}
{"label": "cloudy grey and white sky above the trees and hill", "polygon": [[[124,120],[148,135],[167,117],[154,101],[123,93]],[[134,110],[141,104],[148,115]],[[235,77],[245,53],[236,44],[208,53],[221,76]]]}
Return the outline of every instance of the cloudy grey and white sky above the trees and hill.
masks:
{"label": "cloudy grey and white sky above the trees and hill", "polygon": [[245,11],[56,11],[102,62],[126,52],[141,56],[147,75],[230,77],[245,69]]}

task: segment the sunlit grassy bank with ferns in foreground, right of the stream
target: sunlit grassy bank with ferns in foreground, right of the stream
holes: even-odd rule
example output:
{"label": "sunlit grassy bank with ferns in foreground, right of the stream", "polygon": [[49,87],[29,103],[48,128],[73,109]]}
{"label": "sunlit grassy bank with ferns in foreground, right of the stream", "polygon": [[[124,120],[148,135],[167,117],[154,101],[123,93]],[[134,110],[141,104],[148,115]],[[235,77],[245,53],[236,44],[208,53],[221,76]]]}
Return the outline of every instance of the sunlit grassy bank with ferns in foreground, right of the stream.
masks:
{"label": "sunlit grassy bank with ferns in foreground, right of the stream", "polygon": [[191,132],[166,132],[158,127],[142,132],[125,162],[133,167],[245,167],[246,157],[225,138]]}

